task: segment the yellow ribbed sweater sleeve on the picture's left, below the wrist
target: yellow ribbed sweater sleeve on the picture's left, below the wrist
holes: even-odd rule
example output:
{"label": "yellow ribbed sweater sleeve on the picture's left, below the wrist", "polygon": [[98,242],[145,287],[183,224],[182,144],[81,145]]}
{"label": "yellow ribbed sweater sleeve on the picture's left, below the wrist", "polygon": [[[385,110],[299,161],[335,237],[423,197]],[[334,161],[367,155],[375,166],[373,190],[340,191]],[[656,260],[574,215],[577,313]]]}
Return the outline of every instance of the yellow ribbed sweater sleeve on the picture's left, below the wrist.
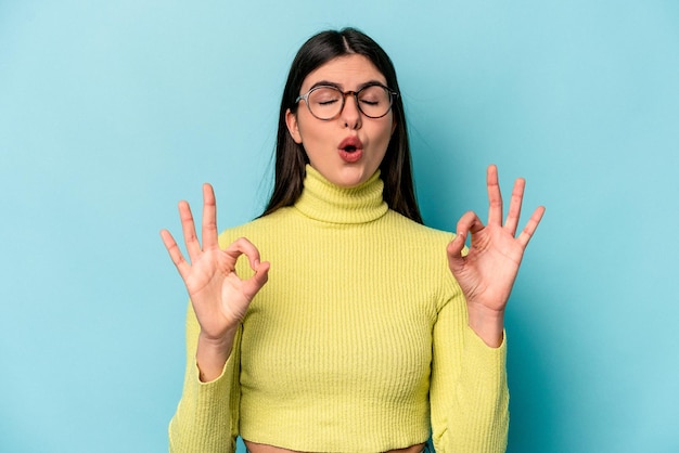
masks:
{"label": "yellow ribbed sweater sleeve on the picture's left, below the wrist", "polygon": [[198,379],[195,361],[200,326],[189,303],[187,313],[187,372],[181,400],[169,424],[170,453],[232,453],[239,427],[239,364],[241,329],[221,375]]}

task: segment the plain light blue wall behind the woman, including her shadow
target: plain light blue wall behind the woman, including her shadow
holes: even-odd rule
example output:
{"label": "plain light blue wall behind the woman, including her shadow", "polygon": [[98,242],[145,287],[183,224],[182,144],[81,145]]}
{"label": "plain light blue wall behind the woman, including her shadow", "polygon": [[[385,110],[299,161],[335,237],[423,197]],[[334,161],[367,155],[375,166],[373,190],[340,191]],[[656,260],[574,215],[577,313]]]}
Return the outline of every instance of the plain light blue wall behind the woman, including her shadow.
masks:
{"label": "plain light blue wall behind the woman, including her shadow", "polygon": [[0,451],[159,452],[185,290],[158,231],[260,212],[298,47],[399,74],[425,221],[547,215],[507,327],[510,452],[679,451],[677,1],[0,0]]}

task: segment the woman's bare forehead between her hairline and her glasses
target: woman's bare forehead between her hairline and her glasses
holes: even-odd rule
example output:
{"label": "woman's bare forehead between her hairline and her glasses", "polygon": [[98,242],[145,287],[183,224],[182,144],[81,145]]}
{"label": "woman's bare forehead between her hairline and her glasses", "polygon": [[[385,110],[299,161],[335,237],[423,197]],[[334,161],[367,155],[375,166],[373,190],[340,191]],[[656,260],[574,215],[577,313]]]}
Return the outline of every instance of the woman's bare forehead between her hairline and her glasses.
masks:
{"label": "woman's bare forehead between her hairline and her glasses", "polygon": [[367,56],[349,54],[337,56],[313,69],[304,79],[302,91],[309,90],[319,81],[330,81],[344,90],[354,90],[367,81],[376,80],[386,85],[384,75]]}

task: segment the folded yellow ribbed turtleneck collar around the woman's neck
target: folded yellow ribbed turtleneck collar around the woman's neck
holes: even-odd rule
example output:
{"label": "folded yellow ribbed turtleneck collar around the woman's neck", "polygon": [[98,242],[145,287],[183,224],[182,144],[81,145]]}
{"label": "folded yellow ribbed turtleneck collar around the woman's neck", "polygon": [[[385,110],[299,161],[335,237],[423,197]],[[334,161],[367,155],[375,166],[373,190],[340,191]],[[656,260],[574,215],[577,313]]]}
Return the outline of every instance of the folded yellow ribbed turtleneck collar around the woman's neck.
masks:
{"label": "folded yellow ribbed turtleneck collar around the woman's neck", "polygon": [[307,165],[304,190],[295,207],[305,216],[329,223],[367,223],[388,210],[382,198],[380,170],[356,187],[340,187]]}

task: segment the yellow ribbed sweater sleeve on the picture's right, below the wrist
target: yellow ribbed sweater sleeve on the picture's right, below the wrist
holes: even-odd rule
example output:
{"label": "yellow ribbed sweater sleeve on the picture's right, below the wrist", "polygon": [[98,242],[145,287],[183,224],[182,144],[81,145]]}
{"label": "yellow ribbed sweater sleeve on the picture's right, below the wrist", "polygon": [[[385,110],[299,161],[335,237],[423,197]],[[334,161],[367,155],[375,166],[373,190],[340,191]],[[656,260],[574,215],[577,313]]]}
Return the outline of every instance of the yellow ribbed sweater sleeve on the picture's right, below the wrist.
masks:
{"label": "yellow ribbed sweater sleeve on the picture's right, below the wrist", "polygon": [[488,347],[471,327],[457,285],[434,325],[430,399],[440,453],[504,452],[509,429],[505,341]]}

